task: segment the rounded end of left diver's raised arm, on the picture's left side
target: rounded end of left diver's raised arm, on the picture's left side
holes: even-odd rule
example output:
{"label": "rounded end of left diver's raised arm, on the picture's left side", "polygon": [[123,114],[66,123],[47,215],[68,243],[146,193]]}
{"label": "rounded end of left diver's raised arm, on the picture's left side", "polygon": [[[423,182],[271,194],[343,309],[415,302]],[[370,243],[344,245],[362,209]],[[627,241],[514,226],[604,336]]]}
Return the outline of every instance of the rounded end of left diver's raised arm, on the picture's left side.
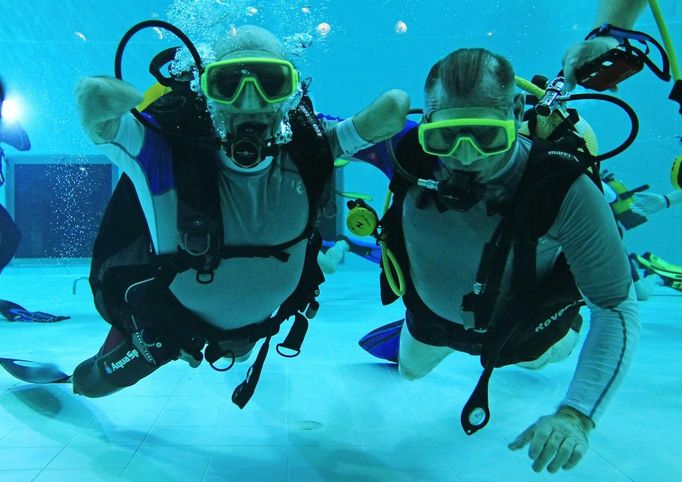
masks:
{"label": "rounded end of left diver's raised arm, on the picture's left side", "polygon": [[111,142],[121,116],[142,102],[130,84],[112,77],[86,77],[76,86],[76,100],[86,134],[98,144]]}

